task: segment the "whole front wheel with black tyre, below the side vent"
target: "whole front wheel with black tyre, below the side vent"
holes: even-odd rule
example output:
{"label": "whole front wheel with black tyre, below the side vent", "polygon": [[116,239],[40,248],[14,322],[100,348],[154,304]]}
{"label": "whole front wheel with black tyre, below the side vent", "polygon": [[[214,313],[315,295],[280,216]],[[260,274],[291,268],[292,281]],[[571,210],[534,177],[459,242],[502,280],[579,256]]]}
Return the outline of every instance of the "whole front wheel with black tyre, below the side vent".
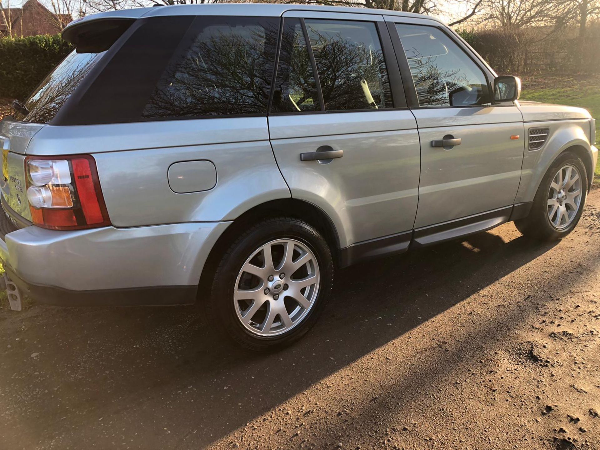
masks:
{"label": "whole front wheel with black tyre, below the side vent", "polygon": [[523,235],[539,241],[562,239],[577,226],[586,196],[587,173],[583,161],[565,152],[544,175],[529,215],[515,220],[515,226]]}

